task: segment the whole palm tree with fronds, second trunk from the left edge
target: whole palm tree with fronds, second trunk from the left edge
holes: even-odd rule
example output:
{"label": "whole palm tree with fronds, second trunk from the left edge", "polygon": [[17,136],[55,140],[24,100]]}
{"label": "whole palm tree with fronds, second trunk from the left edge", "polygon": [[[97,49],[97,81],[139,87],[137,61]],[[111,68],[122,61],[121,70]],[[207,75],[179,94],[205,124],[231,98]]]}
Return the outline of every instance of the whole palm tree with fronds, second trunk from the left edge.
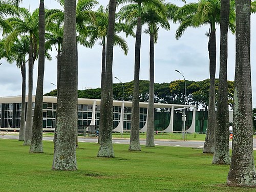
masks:
{"label": "whole palm tree with fronds, second trunk from the left edge", "polygon": [[8,33],[7,36],[7,49],[18,35],[24,33],[29,34],[29,91],[28,91],[28,106],[26,114],[26,128],[24,145],[31,144],[31,133],[32,133],[32,91],[33,91],[33,65],[37,57],[37,37],[38,37],[38,9],[32,14],[26,8],[19,8],[19,16],[8,18],[10,25],[13,27],[12,32],[4,31]]}

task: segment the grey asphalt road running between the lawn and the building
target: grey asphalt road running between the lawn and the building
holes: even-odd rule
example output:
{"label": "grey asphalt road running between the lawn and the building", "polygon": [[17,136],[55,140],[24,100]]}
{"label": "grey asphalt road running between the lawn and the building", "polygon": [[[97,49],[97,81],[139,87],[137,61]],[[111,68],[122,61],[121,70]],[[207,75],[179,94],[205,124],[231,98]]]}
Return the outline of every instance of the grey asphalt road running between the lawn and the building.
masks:
{"label": "grey asphalt road running between the lawn and the building", "polygon": [[[18,135],[0,135],[0,139],[18,139]],[[45,141],[53,141],[53,137],[43,137],[43,140]],[[113,138],[112,139],[113,144],[129,144],[130,139],[120,139],[120,138]],[[254,145],[253,147],[256,150],[256,139],[253,139]],[[79,137],[78,142],[98,142],[98,138],[93,137]],[[145,139],[140,140],[141,145],[145,145]],[[230,148],[231,148],[232,142],[229,142]],[[155,145],[159,146],[174,146],[174,147],[191,147],[191,148],[203,148],[204,141],[190,141],[190,140],[155,140]]]}

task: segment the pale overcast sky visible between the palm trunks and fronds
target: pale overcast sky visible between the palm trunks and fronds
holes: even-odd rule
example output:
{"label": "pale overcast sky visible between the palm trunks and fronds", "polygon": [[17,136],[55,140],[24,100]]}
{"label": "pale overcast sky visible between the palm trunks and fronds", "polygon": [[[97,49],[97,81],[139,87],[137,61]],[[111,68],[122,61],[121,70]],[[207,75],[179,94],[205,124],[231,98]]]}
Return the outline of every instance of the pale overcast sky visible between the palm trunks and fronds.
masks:
{"label": "pale overcast sky visible between the palm trunks and fronds", "polygon": [[[98,0],[100,5],[106,6],[109,1]],[[178,0],[168,2],[182,6],[183,3]],[[186,1],[198,2],[198,1]],[[39,1],[24,0],[21,7],[30,8],[31,11],[39,6]],[[45,7],[48,9],[60,8],[55,0],[45,0]],[[251,34],[256,34],[255,25],[256,15],[251,16]],[[183,79],[179,70],[187,80],[200,81],[209,78],[209,59],[208,59],[208,38],[205,33],[209,31],[209,26],[201,28],[188,28],[183,36],[175,39],[175,31],[178,25],[170,24],[171,30],[159,30],[158,42],[155,45],[155,82],[170,82],[177,79]],[[146,26],[143,27],[143,30]],[[219,77],[219,45],[220,45],[220,27],[217,26],[217,71],[216,78]],[[141,68],[140,79],[149,79],[149,40],[148,34],[142,34],[141,45]],[[235,65],[235,37],[232,34],[228,36],[228,79],[234,80],[234,65]],[[134,47],[135,38],[129,37],[126,39],[129,45],[129,53],[127,56],[118,48],[114,48],[113,60],[113,76],[118,77],[122,82],[129,82],[134,79]],[[252,73],[252,91],[253,91],[253,107],[256,107],[256,37],[251,35],[251,73]],[[56,84],[57,78],[57,52],[55,48],[51,53],[52,61],[46,60],[45,65],[45,81],[44,93],[50,92],[56,87],[51,84]],[[20,69],[16,64],[9,64],[4,59],[0,60],[0,97],[21,95],[22,76]],[[27,70],[28,71],[28,70]],[[34,66],[34,91],[36,90],[37,81],[37,61]],[[101,78],[101,46],[98,44],[92,49],[78,47],[78,89],[99,88]],[[113,79],[114,83],[118,83],[117,79]],[[27,91],[28,93],[28,91]]]}

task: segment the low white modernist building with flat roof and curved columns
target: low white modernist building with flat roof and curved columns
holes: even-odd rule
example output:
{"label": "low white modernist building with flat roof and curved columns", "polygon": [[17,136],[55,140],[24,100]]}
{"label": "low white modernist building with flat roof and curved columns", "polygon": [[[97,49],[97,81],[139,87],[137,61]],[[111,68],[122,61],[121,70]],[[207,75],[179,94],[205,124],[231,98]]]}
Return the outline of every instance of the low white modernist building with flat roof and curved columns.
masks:
{"label": "low white modernist building with flat roof and curved columns", "polygon": [[[26,102],[27,102],[26,97]],[[0,97],[0,125],[1,129],[10,128],[18,129],[20,123],[21,112],[21,96],[13,97]],[[33,96],[33,109],[34,109],[35,96]],[[44,96],[43,100],[43,129],[54,130],[55,117],[57,109],[57,98],[51,96]],[[140,102],[140,131],[146,132],[147,125],[147,102]],[[184,105],[182,104],[165,104],[155,103],[156,109],[168,110],[168,125],[162,127],[162,132],[174,132],[182,131],[175,130],[174,116],[183,113]],[[186,105],[187,111],[193,111],[193,115],[190,118],[189,127],[186,132],[196,132],[196,107],[194,105]],[[159,110],[156,110],[159,111]],[[113,100],[113,131],[120,132],[129,131],[131,129],[131,101],[116,101]],[[83,99],[78,98],[78,125],[99,125],[99,113],[100,113],[100,99]],[[156,112],[158,113],[158,112]],[[181,114],[180,114],[181,115]],[[165,123],[166,124],[166,123]]]}

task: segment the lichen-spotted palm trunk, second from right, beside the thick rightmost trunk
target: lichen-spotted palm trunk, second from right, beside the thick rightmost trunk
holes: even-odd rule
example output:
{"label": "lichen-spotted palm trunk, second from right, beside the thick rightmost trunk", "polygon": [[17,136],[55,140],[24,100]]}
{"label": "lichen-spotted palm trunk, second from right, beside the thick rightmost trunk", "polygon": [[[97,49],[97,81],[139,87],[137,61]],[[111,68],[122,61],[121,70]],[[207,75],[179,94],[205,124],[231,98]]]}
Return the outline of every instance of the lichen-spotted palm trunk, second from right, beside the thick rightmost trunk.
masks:
{"label": "lichen-spotted palm trunk, second from right, beside the thick rightmost trunk", "polygon": [[227,32],[229,25],[229,0],[221,1],[220,74],[216,113],[215,153],[212,164],[230,164],[229,113],[227,90]]}

